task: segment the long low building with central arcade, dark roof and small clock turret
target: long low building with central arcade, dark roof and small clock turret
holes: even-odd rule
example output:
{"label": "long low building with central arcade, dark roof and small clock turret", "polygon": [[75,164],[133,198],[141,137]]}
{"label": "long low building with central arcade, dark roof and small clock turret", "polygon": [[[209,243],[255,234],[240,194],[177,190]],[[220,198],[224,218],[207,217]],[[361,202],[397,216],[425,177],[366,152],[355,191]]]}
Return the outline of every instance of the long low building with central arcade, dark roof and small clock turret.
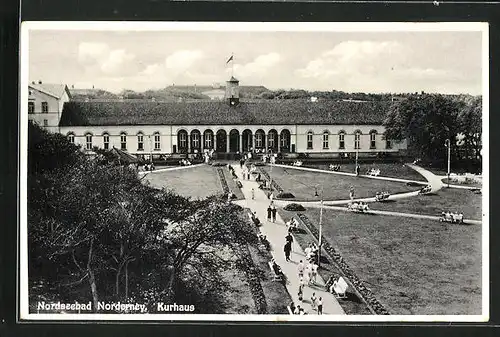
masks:
{"label": "long low building with central arcade, dark roof and small clock turret", "polygon": [[58,131],[91,152],[97,146],[131,154],[359,153],[398,154],[405,142],[383,137],[390,102],[240,100],[232,77],[221,101],[69,101]]}

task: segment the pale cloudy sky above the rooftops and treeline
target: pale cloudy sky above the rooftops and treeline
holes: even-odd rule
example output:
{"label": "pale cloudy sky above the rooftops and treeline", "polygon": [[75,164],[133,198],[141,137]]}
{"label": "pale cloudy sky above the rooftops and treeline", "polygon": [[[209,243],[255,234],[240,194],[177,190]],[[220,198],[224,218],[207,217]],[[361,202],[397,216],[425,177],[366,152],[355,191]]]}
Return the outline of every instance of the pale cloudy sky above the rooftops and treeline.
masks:
{"label": "pale cloudy sky above the rooftops and treeline", "polygon": [[[269,89],[482,92],[481,32],[30,30],[30,81],[120,92]],[[234,55],[234,61],[226,64]]]}

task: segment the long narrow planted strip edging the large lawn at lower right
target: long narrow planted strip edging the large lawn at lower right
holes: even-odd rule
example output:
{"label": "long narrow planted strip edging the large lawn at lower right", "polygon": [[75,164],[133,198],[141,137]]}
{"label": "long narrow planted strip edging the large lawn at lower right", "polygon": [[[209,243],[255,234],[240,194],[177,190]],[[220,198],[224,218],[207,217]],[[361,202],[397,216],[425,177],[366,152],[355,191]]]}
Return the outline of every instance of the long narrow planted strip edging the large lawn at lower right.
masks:
{"label": "long narrow planted strip edging the large lawn at lower right", "polygon": [[[307,227],[312,235],[315,238],[318,238],[318,229],[311,223],[309,218],[304,214],[298,214],[298,217],[302,220],[302,223]],[[333,261],[339,266],[340,270],[344,274],[344,277],[349,280],[349,282],[356,288],[356,291],[363,297],[363,300],[368,305],[370,310],[377,315],[389,315],[389,311],[384,308],[384,306],[375,298],[371,290],[367,288],[359,277],[351,270],[340,253],[336,252],[335,248],[333,248],[324,237],[322,237],[321,242],[327,254],[330,255]]]}

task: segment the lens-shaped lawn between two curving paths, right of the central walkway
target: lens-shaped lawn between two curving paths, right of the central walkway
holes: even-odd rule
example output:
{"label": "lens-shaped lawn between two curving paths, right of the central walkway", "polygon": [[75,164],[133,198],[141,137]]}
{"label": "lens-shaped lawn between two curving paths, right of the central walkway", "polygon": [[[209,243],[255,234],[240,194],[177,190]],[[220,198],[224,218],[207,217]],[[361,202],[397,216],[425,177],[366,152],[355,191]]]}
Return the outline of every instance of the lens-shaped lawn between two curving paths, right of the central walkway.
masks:
{"label": "lens-shaped lawn between two curving paths, right of the central walkway", "polygon": [[[268,172],[270,171],[269,166],[263,168]],[[406,186],[405,183],[283,167],[273,167],[271,178],[285,192],[293,193],[297,201],[320,200],[319,197],[314,196],[315,187],[319,194],[321,194],[321,189],[324,187],[324,200],[349,199],[350,186],[354,186],[356,198],[373,197],[379,191],[401,193],[417,190],[416,187]]]}

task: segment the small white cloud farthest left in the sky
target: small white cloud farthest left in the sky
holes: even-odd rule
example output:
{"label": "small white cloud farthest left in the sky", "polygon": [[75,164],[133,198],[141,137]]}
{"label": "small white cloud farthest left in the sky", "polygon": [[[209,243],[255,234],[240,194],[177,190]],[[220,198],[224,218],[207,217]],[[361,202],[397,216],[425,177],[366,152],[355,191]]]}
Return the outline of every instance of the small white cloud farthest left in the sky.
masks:
{"label": "small white cloud farthest left in the sky", "polygon": [[125,49],[111,49],[106,43],[82,42],[78,46],[78,61],[87,70],[104,74],[123,74],[133,71],[135,55]]}

